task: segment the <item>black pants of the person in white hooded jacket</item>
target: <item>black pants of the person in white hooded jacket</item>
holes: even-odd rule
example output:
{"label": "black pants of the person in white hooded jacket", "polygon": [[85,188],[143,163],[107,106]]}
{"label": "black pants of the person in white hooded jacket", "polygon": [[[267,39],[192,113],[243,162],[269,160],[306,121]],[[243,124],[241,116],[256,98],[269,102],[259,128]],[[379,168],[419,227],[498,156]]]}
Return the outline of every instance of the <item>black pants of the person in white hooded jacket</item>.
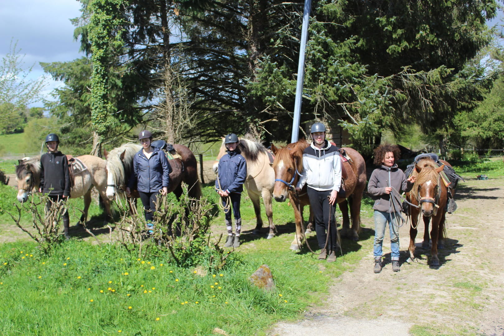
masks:
{"label": "black pants of the person in white hooded jacket", "polygon": [[[329,217],[331,217],[331,230],[329,234],[328,247],[330,251],[335,251],[337,244],[335,212],[334,207],[331,207],[328,199],[328,196],[331,194],[332,190],[319,191],[308,187],[307,191],[308,198],[310,200],[310,206],[313,210],[315,232],[317,232],[317,241],[319,243],[319,247],[322,249],[326,245],[327,224],[329,223]],[[332,211],[331,208],[333,208]]]}

